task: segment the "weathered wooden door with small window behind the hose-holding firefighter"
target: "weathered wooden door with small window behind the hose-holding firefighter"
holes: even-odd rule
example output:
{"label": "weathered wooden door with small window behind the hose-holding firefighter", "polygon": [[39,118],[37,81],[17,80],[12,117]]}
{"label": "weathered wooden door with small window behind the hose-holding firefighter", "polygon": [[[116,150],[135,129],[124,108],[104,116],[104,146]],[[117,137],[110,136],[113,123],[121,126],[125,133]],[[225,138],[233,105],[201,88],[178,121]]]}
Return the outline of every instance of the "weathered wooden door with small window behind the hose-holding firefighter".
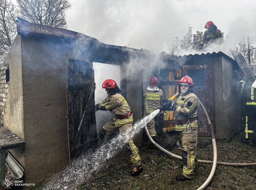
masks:
{"label": "weathered wooden door with small window behind the hose-holding firefighter", "polygon": [[[210,120],[213,125],[214,132],[215,127],[215,102],[214,102],[214,77],[212,64],[206,65],[186,65],[183,66],[183,76],[190,76],[193,79],[194,87],[193,91],[197,95],[198,99],[206,109]],[[210,136],[208,130],[206,118],[203,110],[198,109],[198,135]]]}

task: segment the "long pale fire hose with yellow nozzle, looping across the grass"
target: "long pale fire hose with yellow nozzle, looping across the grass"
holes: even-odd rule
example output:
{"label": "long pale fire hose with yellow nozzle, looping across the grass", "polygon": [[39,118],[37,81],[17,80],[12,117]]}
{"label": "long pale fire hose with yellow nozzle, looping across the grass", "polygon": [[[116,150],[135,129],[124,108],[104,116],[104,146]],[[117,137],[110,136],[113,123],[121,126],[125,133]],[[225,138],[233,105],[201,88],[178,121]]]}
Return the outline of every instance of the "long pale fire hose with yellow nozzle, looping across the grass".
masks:
{"label": "long pale fire hose with yellow nozzle, looping across the grass", "polygon": [[[176,93],[174,96],[172,96],[170,98],[170,100],[174,100],[176,99],[180,94],[179,93]],[[210,118],[203,106],[203,104],[201,103],[201,101],[199,100],[199,104],[200,104],[200,107],[202,108],[203,112],[204,112],[204,115],[206,117],[206,122],[207,122],[207,125],[210,129],[210,133],[211,133],[211,138],[212,138],[212,146],[213,146],[213,161],[208,161],[208,160],[198,160],[199,163],[212,163],[212,170],[210,172],[210,175],[208,176],[208,178],[206,179],[206,181],[197,189],[197,190],[203,190],[205,189],[208,184],[210,183],[210,181],[212,180],[213,176],[214,176],[214,173],[215,173],[215,170],[216,170],[216,165],[217,164],[221,164],[221,165],[230,165],[230,166],[255,166],[256,163],[228,163],[228,162],[219,162],[217,161],[217,147],[216,147],[216,141],[215,141],[215,137],[214,137],[214,132],[213,132],[213,129],[212,129],[212,123],[210,121]],[[181,156],[178,156],[176,154],[173,154],[171,152],[169,152],[168,150],[162,148],[162,146],[160,146],[159,144],[157,144],[153,139],[152,137],[150,136],[149,134],[149,131],[147,129],[147,125],[145,125],[145,131],[147,133],[147,136],[149,137],[149,140],[155,145],[157,146],[157,148],[159,148],[160,150],[162,150],[163,152],[165,152],[166,154],[174,157],[174,158],[178,158],[180,160],[182,160]]]}

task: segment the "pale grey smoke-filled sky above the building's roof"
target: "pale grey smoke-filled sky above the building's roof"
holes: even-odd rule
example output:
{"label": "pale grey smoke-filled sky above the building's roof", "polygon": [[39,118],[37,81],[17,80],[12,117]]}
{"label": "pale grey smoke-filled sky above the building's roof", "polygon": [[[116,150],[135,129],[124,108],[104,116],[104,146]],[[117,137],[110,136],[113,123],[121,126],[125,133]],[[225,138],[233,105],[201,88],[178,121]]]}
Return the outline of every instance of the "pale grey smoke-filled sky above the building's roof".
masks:
{"label": "pale grey smoke-filled sky above the building's roof", "polygon": [[70,0],[69,30],[118,46],[168,52],[188,27],[204,31],[207,21],[233,42],[250,36],[256,45],[255,0]]}

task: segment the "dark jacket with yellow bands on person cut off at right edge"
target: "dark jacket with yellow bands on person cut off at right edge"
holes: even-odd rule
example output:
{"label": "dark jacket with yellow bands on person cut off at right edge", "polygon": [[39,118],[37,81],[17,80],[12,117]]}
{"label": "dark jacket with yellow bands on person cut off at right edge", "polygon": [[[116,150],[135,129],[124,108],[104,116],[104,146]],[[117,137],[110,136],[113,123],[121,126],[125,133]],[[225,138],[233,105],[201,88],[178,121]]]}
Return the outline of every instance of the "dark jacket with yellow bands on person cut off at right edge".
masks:
{"label": "dark jacket with yellow bands on person cut off at right edge", "polygon": [[242,88],[242,94],[245,98],[245,106],[256,108],[256,88],[252,87],[252,82],[239,81],[239,87]]}

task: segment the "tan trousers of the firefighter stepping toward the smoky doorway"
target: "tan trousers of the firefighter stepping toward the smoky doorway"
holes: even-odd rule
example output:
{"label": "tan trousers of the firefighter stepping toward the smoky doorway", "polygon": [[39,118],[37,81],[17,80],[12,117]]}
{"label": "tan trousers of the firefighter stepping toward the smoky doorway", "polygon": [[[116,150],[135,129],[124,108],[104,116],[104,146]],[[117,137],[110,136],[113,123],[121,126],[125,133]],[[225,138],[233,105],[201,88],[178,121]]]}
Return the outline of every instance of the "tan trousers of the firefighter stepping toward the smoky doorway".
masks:
{"label": "tan trousers of the firefighter stepping toward the smoky doorway", "polygon": [[[110,120],[109,122],[107,122],[104,126],[103,129],[106,131],[105,137],[103,139],[99,139],[99,144],[101,144],[102,142],[100,141],[108,141],[111,134],[116,131],[119,130],[120,135],[124,134],[126,132],[126,130],[128,130],[130,127],[132,126],[132,122],[128,122],[126,124],[123,124],[121,126],[115,125],[115,121]],[[136,145],[134,144],[134,142],[132,140],[128,141],[126,148],[128,149],[128,152],[130,154],[130,158],[132,161],[132,165],[133,166],[140,166],[142,165],[141,162],[141,158],[139,156],[139,150],[136,147]]]}

